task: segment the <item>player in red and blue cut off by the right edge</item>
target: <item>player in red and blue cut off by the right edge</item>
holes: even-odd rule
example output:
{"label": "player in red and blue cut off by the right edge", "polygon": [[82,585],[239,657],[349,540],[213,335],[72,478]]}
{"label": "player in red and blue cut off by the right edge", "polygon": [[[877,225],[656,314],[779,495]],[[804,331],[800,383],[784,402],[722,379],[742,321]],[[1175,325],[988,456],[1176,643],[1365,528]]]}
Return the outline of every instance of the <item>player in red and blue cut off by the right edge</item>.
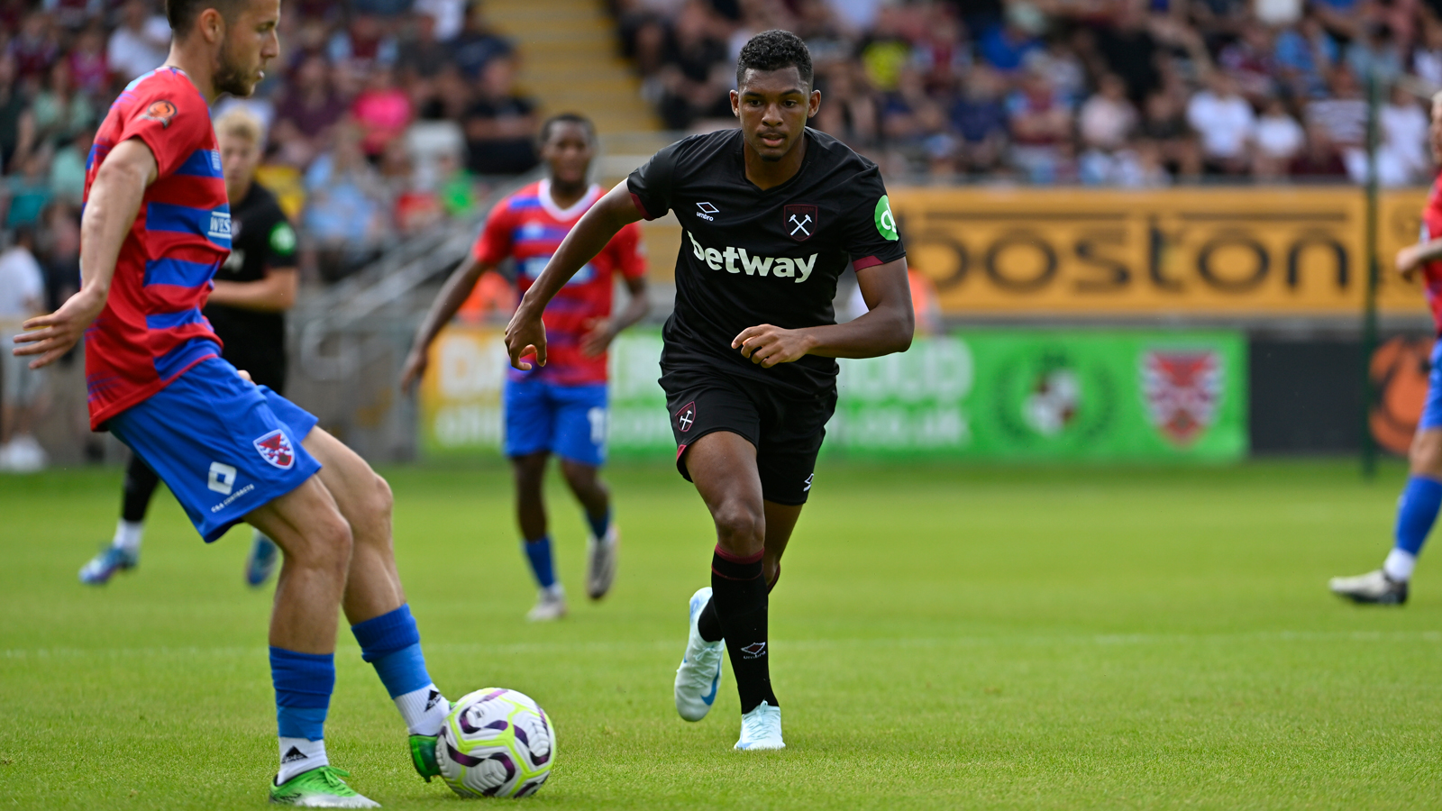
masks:
{"label": "player in red and blue cut off by the right edge", "polygon": [[[1442,163],[1442,92],[1432,97],[1432,127],[1428,131],[1432,159]],[[1442,336],[1442,177],[1433,180],[1422,209],[1422,234],[1416,245],[1397,251],[1397,273],[1409,281],[1422,274],[1422,289]],[[1428,400],[1417,420],[1417,433],[1407,453],[1410,475],[1397,499],[1394,544],[1381,569],[1357,577],[1332,577],[1332,593],[1358,603],[1403,605],[1407,583],[1422,544],[1442,509],[1442,339],[1432,346]]]}

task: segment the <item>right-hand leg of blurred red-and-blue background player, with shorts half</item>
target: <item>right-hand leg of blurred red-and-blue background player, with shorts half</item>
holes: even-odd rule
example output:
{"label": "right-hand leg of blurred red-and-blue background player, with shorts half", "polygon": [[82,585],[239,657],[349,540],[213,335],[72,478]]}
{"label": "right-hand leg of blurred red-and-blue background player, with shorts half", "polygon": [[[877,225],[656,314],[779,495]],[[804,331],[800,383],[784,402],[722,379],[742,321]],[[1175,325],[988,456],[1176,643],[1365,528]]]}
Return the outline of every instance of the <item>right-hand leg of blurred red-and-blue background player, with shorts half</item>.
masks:
{"label": "right-hand leg of blurred red-and-blue background player, with shorts half", "polygon": [[590,535],[585,543],[585,595],[598,600],[616,579],[620,530],[611,521],[611,494],[601,482],[606,463],[606,384],[552,387],[558,403],[555,442],[561,475],[581,502]]}

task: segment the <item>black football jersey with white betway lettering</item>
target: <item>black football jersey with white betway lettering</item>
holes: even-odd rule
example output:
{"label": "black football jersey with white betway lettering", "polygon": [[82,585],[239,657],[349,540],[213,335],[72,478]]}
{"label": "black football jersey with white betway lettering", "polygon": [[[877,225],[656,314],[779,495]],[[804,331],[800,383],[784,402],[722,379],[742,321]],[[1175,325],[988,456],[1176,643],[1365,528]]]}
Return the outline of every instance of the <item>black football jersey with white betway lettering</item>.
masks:
{"label": "black football jersey with white betway lettering", "polygon": [[666,369],[707,365],[803,397],[836,384],[836,361],[806,355],[766,369],[731,348],[744,329],[836,323],[836,279],[906,255],[877,165],[808,128],[800,170],[761,190],[746,179],[741,130],[691,136],[632,172],[627,188],[655,219],[675,211],[676,309]]}

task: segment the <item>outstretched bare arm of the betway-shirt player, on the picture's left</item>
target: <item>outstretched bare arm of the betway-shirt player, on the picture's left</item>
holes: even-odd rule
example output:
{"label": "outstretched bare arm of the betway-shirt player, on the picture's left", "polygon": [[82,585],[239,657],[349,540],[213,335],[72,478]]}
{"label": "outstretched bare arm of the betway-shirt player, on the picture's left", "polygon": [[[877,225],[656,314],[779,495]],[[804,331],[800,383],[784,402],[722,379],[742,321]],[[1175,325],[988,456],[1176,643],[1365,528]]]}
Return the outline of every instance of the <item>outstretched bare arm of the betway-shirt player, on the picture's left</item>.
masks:
{"label": "outstretched bare arm of the betway-shirt player, on the picture's left", "polygon": [[636,208],[626,180],[606,192],[606,196],[581,215],[565,240],[561,240],[561,247],[551,255],[535,284],[521,297],[516,315],[506,325],[506,352],[510,355],[512,367],[529,369],[531,364],[521,356],[532,352],[536,355],[536,362],[545,365],[545,325],[541,323],[545,306],[561,287],[565,287],[575,271],[581,270],[581,266],[601,253],[617,231],[640,218],[642,212]]}

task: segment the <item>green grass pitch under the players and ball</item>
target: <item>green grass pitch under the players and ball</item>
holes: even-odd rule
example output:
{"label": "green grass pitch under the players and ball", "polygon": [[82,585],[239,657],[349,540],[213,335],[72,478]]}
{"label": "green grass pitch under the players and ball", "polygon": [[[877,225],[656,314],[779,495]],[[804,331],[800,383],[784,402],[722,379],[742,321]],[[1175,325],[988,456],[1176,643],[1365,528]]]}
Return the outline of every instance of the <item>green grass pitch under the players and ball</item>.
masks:
{"label": "green grass pitch under the players and ball", "polygon": [[[665,466],[619,466],[620,577],[534,592],[499,466],[391,469],[397,556],[451,697],[522,690],[558,762],[535,808],[1425,808],[1442,804],[1442,574],[1402,610],[1325,590],[1386,553],[1403,470],[829,463],[771,597],[789,749],[731,750],[730,668],[688,724],[671,683],[711,540]],[[554,485],[555,482],[552,482]],[[118,470],[0,479],[0,807],[258,808],[274,773],[270,596],[248,532],[205,547],[159,495],[140,569],[75,579]],[[386,808],[463,808],[342,632],[333,762]],[[505,801],[500,801],[505,802]]]}

